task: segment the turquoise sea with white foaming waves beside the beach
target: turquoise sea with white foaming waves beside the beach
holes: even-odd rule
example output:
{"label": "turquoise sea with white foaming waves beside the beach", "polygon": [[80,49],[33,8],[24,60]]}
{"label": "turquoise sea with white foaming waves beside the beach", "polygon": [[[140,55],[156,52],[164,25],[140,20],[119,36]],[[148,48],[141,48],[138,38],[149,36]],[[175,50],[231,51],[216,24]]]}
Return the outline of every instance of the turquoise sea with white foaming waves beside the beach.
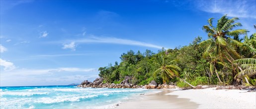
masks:
{"label": "turquoise sea with white foaming waves beside the beach", "polygon": [[147,89],[80,88],[77,86],[0,87],[0,109],[114,108]]}

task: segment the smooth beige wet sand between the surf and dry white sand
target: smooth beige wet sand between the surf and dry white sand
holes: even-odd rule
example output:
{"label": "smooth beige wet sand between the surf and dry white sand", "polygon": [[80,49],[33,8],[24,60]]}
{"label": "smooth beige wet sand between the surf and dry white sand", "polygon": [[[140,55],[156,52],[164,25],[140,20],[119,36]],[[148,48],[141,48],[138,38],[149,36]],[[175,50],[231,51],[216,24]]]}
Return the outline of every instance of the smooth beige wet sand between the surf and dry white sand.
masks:
{"label": "smooth beige wet sand between the surf and dry white sand", "polygon": [[189,99],[177,98],[176,95],[166,95],[171,90],[149,95],[140,95],[133,101],[119,104],[117,109],[196,109],[198,104]]}

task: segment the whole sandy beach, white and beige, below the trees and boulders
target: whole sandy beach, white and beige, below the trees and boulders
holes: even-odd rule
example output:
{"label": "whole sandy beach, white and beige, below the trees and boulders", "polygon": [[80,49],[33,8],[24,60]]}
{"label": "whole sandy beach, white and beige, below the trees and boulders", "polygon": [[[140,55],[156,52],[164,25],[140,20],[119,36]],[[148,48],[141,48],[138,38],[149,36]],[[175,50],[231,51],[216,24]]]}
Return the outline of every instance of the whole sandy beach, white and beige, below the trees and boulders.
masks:
{"label": "whole sandy beach, white and beige, below the trees and boulders", "polygon": [[163,90],[140,95],[117,109],[256,109],[256,92],[247,90]]}

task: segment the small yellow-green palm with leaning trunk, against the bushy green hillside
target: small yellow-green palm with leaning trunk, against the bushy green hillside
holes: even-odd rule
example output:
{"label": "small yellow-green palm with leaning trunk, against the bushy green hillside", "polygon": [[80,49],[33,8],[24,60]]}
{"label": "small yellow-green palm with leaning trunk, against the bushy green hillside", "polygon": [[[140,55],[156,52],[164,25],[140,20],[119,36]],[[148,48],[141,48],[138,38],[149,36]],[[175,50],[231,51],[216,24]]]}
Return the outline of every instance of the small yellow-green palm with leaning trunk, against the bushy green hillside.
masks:
{"label": "small yellow-green palm with leaning trunk, against the bushy green hillside", "polygon": [[189,84],[188,82],[186,82],[185,80],[183,80],[182,78],[179,77],[179,70],[180,68],[174,64],[171,64],[177,60],[171,60],[168,62],[169,57],[166,57],[164,55],[158,55],[157,57],[157,62],[155,62],[156,64],[158,64],[160,66],[160,68],[158,68],[155,72],[154,72],[154,76],[156,77],[158,74],[161,75],[161,77],[163,78],[163,82],[166,83],[169,81],[169,77],[171,77],[172,79],[177,77],[180,80],[184,81],[185,83],[187,83],[189,86],[191,86],[192,88],[196,88],[195,86]]}

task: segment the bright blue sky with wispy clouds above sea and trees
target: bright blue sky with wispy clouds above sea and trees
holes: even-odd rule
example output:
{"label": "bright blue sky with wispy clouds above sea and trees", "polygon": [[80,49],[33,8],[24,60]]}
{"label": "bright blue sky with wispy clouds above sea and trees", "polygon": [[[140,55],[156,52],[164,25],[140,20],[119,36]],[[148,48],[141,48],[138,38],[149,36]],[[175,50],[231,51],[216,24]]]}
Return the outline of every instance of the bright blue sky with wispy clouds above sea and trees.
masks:
{"label": "bright blue sky with wispy clouds above sea and trees", "polygon": [[255,0],[0,0],[0,86],[92,81],[129,50],[207,39],[202,26],[224,14],[255,32]]}

